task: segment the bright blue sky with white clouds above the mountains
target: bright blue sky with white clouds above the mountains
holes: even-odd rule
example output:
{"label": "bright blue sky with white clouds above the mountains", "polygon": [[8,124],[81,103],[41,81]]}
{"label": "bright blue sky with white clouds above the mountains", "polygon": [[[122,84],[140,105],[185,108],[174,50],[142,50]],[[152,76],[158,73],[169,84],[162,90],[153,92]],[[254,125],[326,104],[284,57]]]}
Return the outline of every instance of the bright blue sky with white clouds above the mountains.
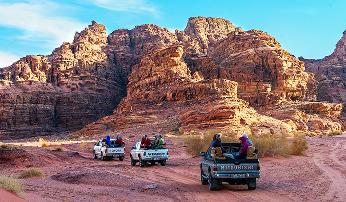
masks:
{"label": "bright blue sky with white clouds above the mountains", "polygon": [[346,29],[346,1],[0,0],[0,68],[26,55],[51,54],[92,20],[107,34],[155,24],[184,30],[189,17],[220,17],[268,32],[296,57],[330,55]]}

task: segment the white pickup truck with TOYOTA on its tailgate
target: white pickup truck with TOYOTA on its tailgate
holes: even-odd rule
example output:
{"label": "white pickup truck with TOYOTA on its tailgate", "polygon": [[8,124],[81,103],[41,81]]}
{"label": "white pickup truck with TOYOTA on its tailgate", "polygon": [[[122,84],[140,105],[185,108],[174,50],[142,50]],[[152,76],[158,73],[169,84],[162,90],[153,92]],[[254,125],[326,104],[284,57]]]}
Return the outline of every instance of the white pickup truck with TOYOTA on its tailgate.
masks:
{"label": "white pickup truck with TOYOTA on its tailgate", "polygon": [[[115,141],[111,139],[111,145],[114,145]],[[100,140],[94,145],[94,159],[100,157],[101,161],[105,161],[107,158],[119,158],[119,161],[124,161],[126,154],[125,143],[123,144],[124,147],[105,147],[102,145],[102,140]]]}

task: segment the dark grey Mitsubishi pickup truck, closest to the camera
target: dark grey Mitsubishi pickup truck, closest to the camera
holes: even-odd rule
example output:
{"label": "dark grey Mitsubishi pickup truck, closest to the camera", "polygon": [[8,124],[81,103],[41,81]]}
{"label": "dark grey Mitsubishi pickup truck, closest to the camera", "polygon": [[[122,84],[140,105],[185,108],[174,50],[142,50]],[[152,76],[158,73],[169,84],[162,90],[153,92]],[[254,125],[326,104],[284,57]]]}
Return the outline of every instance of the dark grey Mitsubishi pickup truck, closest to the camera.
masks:
{"label": "dark grey Mitsubishi pickup truck, closest to the camera", "polygon": [[[240,151],[240,143],[221,143],[225,150]],[[256,189],[259,174],[258,159],[213,159],[210,147],[200,152],[203,159],[200,164],[200,181],[209,185],[209,190],[216,190],[222,182],[230,185],[248,185],[249,190]]]}

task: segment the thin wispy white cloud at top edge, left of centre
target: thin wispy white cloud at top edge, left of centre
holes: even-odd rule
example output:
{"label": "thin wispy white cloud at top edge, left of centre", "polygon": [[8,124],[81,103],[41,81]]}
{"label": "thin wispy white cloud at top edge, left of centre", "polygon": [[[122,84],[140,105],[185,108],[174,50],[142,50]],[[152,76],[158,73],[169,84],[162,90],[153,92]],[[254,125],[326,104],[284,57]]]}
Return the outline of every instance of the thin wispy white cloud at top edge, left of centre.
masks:
{"label": "thin wispy white cloud at top edge, left of centre", "polygon": [[156,14],[156,7],[146,0],[94,0],[96,6],[115,11],[149,12]]}

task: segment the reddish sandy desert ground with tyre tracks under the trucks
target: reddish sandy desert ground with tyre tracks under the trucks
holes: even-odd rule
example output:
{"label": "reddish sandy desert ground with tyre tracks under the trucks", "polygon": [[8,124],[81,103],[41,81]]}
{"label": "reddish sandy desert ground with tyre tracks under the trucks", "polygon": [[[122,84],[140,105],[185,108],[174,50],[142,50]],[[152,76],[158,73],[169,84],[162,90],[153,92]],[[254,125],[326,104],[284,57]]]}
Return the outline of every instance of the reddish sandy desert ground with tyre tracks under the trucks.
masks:
{"label": "reddish sandy desert ground with tyre tracks under the trucks", "polygon": [[[137,138],[137,137],[136,137]],[[93,159],[93,143],[63,144],[64,151],[49,147],[26,147],[13,161],[0,162],[0,173],[18,176],[29,167],[46,172],[43,178],[20,179],[27,201],[346,201],[346,134],[308,138],[306,156],[260,159],[261,178],[257,188],[223,183],[216,191],[200,183],[201,157],[187,155],[184,147],[174,148],[167,138],[166,166],[131,166],[127,143],[123,162]],[[324,145],[320,145],[323,143]],[[157,184],[157,188],[145,189]],[[0,189],[0,201],[13,194]]]}

